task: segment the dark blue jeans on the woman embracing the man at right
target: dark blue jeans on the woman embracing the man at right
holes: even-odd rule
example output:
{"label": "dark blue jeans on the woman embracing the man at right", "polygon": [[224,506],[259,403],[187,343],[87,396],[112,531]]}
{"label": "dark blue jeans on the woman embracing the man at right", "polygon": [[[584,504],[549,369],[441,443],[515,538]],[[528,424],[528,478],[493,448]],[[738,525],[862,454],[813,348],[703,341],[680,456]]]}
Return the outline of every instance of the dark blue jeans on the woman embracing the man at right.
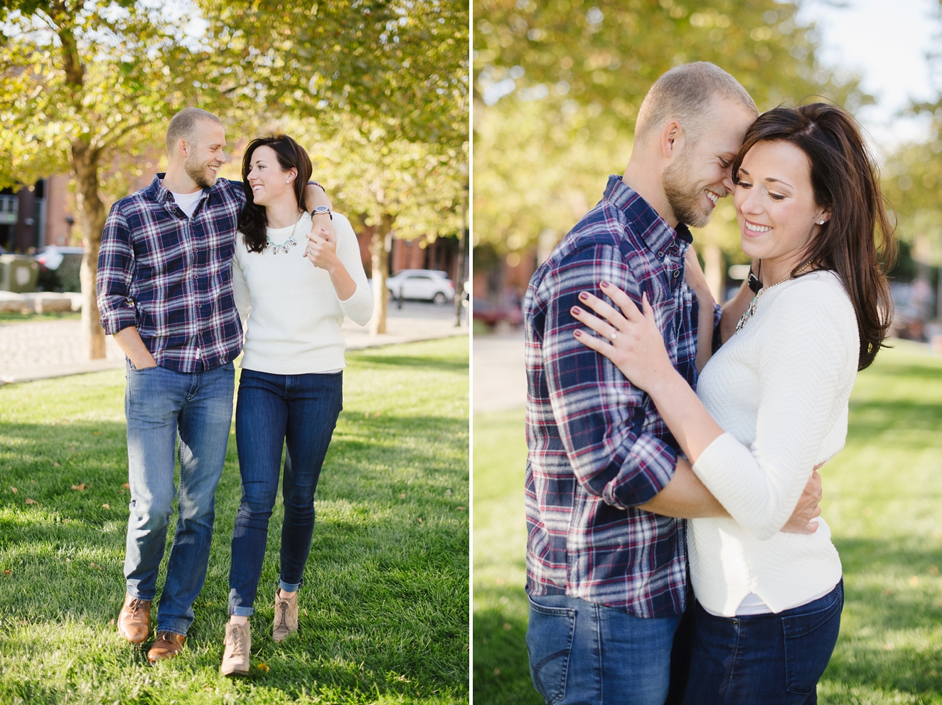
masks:
{"label": "dark blue jeans on the woman embracing the man at right", "polygon": [[777,615],[718,617],[698,603],[684,705],[814,705],[843,606],[843,581]]}

